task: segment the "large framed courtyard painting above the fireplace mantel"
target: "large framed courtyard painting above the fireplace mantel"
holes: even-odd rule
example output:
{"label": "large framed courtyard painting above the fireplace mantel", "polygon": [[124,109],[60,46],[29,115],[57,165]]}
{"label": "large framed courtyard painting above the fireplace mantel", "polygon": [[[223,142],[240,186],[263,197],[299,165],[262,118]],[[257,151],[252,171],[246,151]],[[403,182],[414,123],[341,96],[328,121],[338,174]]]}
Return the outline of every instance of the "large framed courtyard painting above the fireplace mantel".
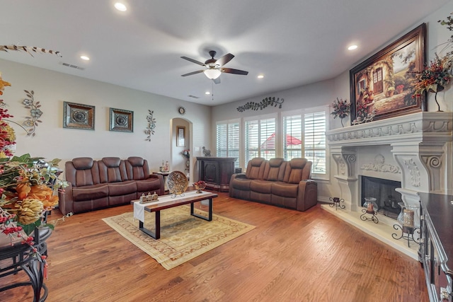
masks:
{"label": "large framed courtyard painting above the fireplace mantel", "polygon": [[350,70],[351,122],[425,111],[425,95],[414,94],[415,71],[425,66],[426,25],[377,52]]}

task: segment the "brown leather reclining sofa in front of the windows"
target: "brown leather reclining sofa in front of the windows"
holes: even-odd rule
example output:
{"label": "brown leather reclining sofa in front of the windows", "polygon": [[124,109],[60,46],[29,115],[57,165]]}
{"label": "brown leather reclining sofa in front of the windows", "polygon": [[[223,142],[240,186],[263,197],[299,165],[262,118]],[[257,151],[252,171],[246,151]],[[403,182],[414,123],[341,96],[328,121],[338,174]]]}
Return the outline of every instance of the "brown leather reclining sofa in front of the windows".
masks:
{"label": "brown leather reclining sofa in front of the windows", "polygon": [[318,202],[311,165],[306,158],[253,158],[246,173],[231,175],[229,196],[305,211]]}

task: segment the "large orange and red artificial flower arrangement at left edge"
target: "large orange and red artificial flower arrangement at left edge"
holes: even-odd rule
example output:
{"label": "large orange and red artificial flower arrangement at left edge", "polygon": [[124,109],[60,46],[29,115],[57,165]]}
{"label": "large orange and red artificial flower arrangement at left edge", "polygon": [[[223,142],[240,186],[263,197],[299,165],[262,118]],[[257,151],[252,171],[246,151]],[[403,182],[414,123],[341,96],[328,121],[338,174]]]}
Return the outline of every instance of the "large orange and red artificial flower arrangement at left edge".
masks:
{"label": "large orange and red artificial flower arrangement at left edge", "polygon": [[[6,86],[11,84],[0,75],[0,95]],[[46,256],[33,247],[34,238],[30,235],[35,228],[53,229],[60,220],[47,223],[43,218],[58,204],[55,190],[62,190],[67,182],[59,180],[56,174],[59,159],[46,162],[30,154],[13,156],[11,146],[16,144],[16,134],[6,121],[13,116],[1,105],[3,100],[0,100],[0,233],[10,238],[11,245],[15,237],[30,245],[32,256],[45,263],[46,275]]]}

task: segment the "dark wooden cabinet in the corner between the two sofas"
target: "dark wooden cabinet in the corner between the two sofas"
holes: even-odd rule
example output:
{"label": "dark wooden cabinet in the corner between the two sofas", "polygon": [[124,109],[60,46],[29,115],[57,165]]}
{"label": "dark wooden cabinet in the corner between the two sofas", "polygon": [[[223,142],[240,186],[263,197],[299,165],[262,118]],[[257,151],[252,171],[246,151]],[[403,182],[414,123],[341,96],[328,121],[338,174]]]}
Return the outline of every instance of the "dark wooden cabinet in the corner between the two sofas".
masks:
{"label": "dark wooden cabinet in the corner between the two sofas", "polygon": [[229,179],[234,174],[235,157],[197,157],[200,180],[207,189],[228,192]]}

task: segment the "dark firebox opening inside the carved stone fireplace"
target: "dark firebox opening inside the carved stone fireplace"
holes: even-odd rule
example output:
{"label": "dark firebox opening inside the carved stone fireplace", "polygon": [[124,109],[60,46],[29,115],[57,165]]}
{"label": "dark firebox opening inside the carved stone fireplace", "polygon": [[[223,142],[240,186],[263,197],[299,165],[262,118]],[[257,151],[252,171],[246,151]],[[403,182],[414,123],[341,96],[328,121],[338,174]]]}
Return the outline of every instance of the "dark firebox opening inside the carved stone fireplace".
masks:
{"label": "dark firebox opening inside the carved stone fireplace", "polygon": [[360,193],[360,206],[364,207],[365,198],[376,198],[377,211],[380,214],[397,219],[401,212],[400,204],[403,203],[401,194],[396,192],[397,187],[401,187],[401,182],[395,180],[384,180],[382,178],[371,178],[369,176],[360,177],[362,186]]}

